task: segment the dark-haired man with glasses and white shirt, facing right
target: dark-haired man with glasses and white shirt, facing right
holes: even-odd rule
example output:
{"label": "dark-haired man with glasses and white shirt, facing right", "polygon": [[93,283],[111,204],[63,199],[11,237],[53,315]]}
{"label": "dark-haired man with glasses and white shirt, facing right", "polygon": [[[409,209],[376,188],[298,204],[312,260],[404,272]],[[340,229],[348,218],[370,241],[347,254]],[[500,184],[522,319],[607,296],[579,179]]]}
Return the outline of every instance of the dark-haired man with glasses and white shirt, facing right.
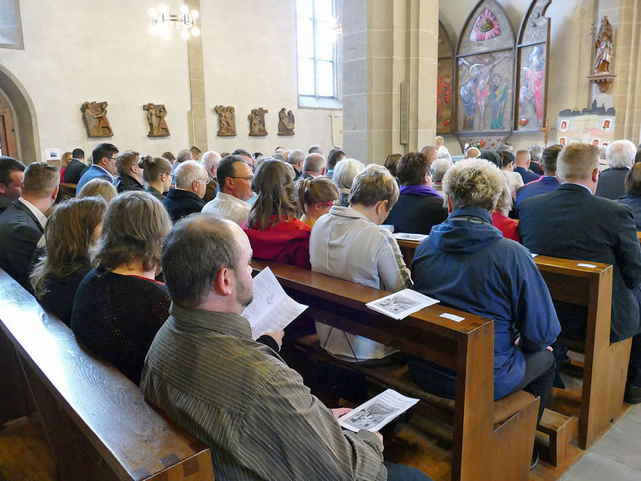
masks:
{"label": "dark-haired man with glasses and white shirt, facing right", "polygon": [[247,201],[254,195],[252,192],[252,169],[240,155],[228,155],[218,164],[216,171],[221,192],[216,199],[207,202],[203,212],[216,214],[217,217],[229,219],[241,224],[249,217],[251,204]]}

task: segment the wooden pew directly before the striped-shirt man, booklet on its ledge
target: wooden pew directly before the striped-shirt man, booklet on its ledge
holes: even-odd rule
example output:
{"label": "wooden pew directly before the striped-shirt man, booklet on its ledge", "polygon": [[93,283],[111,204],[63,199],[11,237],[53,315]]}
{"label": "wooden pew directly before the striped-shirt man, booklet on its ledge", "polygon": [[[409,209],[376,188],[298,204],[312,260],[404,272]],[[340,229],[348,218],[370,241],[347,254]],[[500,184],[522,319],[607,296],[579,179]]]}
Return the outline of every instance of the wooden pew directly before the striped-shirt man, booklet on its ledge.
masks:
{"label": "wooden pew directly before the striped-shirt man, booklet on its ledge", "polygon": [[[307,316],[456,371],[452,480],[528,478],[538,398],[520,391],[494,401],[493,321],[441,305],[395,321],[365,305],[388,292],[276,262],[252,266],[270,267],[292,298],[309,305]],[[508,414],[497,416],[500,410]],[[495,424],[495,417],[502,419]]]}

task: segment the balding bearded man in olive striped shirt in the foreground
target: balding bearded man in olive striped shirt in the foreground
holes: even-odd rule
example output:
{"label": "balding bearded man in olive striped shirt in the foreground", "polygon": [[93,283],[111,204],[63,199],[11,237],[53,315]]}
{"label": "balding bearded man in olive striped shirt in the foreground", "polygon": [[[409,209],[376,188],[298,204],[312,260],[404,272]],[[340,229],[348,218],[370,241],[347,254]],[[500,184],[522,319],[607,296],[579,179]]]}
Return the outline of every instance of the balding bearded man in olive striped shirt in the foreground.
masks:
{"label": "balding bearded man in olive striped shirt in the foreground", "polygon": [[[341,430],[300,375],[251,339],[251,246],[232,221],[194,214],[167,235],[173,305],[149,349],[141,389],[212,449],[216,480],[426,480],[384,463],[382,437]],[[280,339],[277,339],[280,341]]]}

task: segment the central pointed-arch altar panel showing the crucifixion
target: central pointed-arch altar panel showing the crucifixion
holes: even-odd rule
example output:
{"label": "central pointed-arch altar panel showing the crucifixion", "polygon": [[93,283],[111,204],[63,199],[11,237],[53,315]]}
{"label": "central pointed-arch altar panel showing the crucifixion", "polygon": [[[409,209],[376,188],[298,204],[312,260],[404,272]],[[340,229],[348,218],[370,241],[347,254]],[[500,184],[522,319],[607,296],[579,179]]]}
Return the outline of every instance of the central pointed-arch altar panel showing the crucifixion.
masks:
{"label": "central pointed-arch altar panel showing the crucifixion", "polygon": [[512,130],[514,32],[496,0],[482,0],[463,26],[456,50],[456,132],[459,141],[483,140]]}

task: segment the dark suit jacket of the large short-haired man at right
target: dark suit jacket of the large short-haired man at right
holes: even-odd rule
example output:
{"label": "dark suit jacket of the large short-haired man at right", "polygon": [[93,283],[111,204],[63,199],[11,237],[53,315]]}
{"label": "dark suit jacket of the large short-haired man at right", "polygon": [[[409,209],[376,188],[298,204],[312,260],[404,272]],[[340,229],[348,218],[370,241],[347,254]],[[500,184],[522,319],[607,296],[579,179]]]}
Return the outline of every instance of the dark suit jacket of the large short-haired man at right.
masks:
{"label": "dark suit jacket of the large short-haired man at right", "polygon": [[610,340],[638,334],[641,248],[631,210],[564,184],[525,199],[519,212],[521,242],[533,253],[613,265]]}

